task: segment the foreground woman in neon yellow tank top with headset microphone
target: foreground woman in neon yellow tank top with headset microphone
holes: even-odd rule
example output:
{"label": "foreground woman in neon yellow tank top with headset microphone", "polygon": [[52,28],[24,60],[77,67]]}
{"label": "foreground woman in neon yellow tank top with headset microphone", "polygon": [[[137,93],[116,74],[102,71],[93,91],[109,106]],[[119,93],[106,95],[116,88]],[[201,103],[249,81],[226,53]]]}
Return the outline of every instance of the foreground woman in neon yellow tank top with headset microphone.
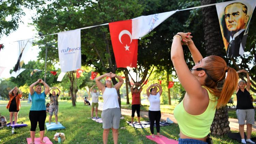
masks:
{"label": "foreground woman in neon yellow tank top with headset microphone", "polygon": [[[184,99],[174,109],[174,117],[180,127],[179,143],[207,143],[215,110],[225,106],[237,87],[238,74],[227,67],[218,56],[203,58],[191,33],[179,32],[174,35],[171,60],[179,81],[186,90]],[[184,59],[182,45],[187,45],[195,62],[189,70]],[[218,82],[224,80],[223,90],[217,89]]]}

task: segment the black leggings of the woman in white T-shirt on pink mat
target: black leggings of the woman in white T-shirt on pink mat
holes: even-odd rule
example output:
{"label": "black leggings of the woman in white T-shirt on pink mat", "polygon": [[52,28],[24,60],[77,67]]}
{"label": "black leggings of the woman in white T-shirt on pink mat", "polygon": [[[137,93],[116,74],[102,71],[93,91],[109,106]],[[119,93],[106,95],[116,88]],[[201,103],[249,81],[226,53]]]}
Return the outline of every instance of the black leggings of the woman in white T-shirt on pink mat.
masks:
{"label": "black leggings of the woman in white T-shirt on pink mat", "polygon": [[161,111],[150,111],[150,110],[148,110],[148,117],[150,118],[151,134],[154,134],[155,121],[156,121],[156,132],[160,132]]}

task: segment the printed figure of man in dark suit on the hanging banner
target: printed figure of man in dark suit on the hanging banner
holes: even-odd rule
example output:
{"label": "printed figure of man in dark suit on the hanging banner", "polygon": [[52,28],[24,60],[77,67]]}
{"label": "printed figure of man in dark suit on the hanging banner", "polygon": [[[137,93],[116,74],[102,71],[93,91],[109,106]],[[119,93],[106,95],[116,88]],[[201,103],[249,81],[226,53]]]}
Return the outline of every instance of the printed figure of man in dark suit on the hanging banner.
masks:
{"label": "printed figure of man in dark suit on the hanging banner", "polygon": [[229,58],[243,55],[247,38],[246,24],[249,16],[247,6],[235,2],[227,5],[224,10],[223,35],[226,39],[226,52]]}

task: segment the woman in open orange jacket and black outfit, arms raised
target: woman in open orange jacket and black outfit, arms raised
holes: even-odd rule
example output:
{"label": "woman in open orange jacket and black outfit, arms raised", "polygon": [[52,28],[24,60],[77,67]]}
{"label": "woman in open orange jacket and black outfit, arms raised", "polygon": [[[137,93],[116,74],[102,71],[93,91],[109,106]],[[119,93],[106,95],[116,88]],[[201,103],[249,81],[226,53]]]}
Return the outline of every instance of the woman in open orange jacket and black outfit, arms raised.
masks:
{"label": "woman in open orange jacket and black outfit, arms raised", "polygon": [[[19,93],[18,93],[19,91]],[[20,101],[19,99],[22,97],[22,91],[20,91],[17,87],[14,87],[10,92],[9,92],[9,103],[6,106],[6,109],[9,109],[10,112],[10,122],[11,125],[13,124],[12,122],[12,117],[14,113],[14,124],[16,125],[17,119],[18,119],[18,112],[20,109]]]}

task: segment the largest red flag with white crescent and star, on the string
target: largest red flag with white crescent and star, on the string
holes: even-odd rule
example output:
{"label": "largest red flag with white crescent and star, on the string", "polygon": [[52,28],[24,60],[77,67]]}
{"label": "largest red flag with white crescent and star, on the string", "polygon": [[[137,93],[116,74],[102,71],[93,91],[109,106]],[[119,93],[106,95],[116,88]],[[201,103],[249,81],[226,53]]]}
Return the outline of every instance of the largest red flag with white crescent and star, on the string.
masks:
{"label": "largest red flag with white crescent and star, on the string", "polygon": [[137,67],[138,39],[132,40],[132,20],[109,23],[117,68]]}

